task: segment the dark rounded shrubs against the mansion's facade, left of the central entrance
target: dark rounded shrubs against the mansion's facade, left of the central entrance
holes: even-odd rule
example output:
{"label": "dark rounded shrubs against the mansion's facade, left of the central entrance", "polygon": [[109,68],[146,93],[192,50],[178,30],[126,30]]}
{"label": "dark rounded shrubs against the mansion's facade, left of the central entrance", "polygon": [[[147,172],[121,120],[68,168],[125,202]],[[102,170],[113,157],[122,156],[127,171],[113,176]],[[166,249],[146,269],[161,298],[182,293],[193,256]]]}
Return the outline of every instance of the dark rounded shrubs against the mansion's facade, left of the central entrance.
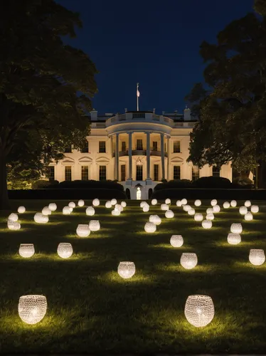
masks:
{"label": "dark rounded shrubs against the mansion's facade, left of the central entrance", "polygon": [[32,189],[118,189],[124,187],[112,180],[73,180],[58,182],[57,180],[38,180],[32,184]]}

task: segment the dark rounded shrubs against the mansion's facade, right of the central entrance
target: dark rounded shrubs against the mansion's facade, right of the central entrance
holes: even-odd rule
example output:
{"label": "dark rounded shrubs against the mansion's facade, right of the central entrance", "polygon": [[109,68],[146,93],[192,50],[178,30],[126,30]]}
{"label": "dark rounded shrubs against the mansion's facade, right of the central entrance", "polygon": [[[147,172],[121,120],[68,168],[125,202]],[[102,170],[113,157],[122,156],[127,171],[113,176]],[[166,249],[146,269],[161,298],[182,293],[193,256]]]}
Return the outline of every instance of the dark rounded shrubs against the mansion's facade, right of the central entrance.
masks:
{"label": "dark rounded shrubs against the mansion's facade, right of the central entrance", "polygon": [[223,177],[201,177],[191,182],[188,179],[176,179],[169,182],[157,184],[155,191],[161,189],[178,189],[178,188],[204,188],[204,189],[251,189],[252,181],[248,178],[240,179],[238,177],[233,183],[229,179]]}

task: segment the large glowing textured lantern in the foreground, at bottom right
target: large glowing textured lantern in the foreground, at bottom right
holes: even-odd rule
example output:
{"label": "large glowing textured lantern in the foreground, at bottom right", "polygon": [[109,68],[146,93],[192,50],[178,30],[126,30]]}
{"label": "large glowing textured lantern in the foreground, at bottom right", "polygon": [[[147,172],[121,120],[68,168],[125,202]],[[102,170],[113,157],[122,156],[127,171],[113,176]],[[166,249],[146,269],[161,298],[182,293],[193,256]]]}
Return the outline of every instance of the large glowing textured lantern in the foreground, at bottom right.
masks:
{"label": "large glowing textured lantern in the foreground, at bottom right", "polygon": [[213,300],[208,295],[189,295],[185,305],[188,323],[202,328],[211,323],[214,317]]}

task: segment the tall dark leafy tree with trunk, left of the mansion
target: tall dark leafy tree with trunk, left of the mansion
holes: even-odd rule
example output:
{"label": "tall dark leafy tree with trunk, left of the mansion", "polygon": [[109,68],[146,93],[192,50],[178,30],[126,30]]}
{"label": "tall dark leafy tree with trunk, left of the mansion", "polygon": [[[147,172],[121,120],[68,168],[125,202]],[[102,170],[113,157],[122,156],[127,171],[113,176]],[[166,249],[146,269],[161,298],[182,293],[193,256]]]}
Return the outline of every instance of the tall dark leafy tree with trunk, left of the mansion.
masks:
{"label": "tall dark leafy tree with trunk, left of the mansion", "polygon": [[41,172],[89,133],[97,70],[63,43],[75,26],[79,15],[54,0],[9,0],[0,11],[0,209],[9,207],[6,164],[35,159]]}

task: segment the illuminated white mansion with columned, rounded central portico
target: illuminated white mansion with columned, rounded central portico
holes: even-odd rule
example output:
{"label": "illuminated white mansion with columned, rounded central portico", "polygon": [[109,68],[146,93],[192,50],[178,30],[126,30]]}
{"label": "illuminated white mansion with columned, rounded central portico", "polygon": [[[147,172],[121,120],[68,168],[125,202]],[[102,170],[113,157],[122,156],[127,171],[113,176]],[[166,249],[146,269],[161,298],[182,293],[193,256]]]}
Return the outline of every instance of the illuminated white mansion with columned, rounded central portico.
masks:
{"label": "illuminated white mansion with columned, rounded central portico", "polygon": [[[50,179],[117,179],[131,199],[137,190],[147,199],[161,179],[220,176],[232,180],[230,164],[201,169],[186,162],[189,133],[195,125],[191,110],[183,114],[127,111],[124,114],[90,112],[91,132],[83,150],[65,150],[64,159],[50,164]],[[137,187],[136,187],[137,186]],[[138,189],[138,187],[140,189]],[[151,191],[150,191],[151,192]]]}

